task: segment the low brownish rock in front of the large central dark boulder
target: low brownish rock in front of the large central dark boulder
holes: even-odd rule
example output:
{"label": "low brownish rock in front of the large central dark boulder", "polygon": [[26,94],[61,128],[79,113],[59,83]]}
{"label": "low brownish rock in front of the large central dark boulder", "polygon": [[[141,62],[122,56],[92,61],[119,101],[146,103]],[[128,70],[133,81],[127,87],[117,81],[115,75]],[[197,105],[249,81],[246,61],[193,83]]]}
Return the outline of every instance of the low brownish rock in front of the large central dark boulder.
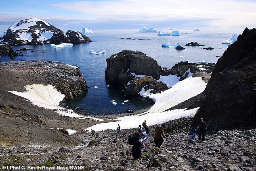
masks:
{"label": "low brownish rock in front of the large central dark boulder", "polygon": [[130,81],[130,84],[124,88],[125,95],[138,95],[141,89],[147,91],[151,89],[150,93],[161,93],[161,91],[168,90],[168,86],[163,82],[157,82],[152,77],[137,77]]}

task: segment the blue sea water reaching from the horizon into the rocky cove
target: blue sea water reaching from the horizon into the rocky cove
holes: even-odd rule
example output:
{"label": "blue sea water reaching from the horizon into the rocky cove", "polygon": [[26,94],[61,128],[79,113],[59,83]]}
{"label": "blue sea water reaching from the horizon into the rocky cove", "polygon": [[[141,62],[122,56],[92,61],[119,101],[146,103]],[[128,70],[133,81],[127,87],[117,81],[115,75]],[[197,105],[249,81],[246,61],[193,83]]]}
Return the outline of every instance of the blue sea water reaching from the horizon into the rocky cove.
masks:
{"label": "blue sea water reaching from the horizon into the rocky cove", "polygon": [[[168,31],[165,32],[168,33]],[[70,101],[68,105],[84,108],[85,112],[91,114],[123,113],[129,107],[134,110],[144,109],[153,105],[153,102],[142,97],[124,96],[121,92],[122,87],[106,82],[104,72],[107,67],[106,59],[112,54],[121,52],[124,49],[141,51],[157,60],[160,66],[167,68],[171,68],[180,61],[196,62],[197,60],[205,60],[210,63],[216,63],[219,58],[216,56],[221,56],[228,47],[228,45],[224,45],[221,42],[230,39],[232,34],[233,32],[180,31],[180,36],[157,36],[157,33],[138,33],[136,30],[94,31],[94,33],[87,35],[92,42],[73,45],[72,47],[55,49],[50,45],[15,46],[15,50],[26,47],[34,49],[34,52],[30,52],[30,50],[23,51],[23,56],[16,56],[13,59],[9,59],[6,55],[1,55],[0,62],[51,60],[77,65],[80,67],[90,89],[87,93]],[[166,43],[168,40],[171,45],[179,42],[186,49],[177,51],[175,48],[162,47],[161,44]],[[191,41],[205,46],[185,46]],[[202,49],[203,47],[213,47],[214,49],[206,50]],[[103,49],[106,50],[106,54],[89,54],[90,50],[99,52]],[[95,86],[98,88],[94,88]],[[113,105],[110,102],[112,100],[115,100],[117,105]],[[122,105],[121,103],[124,100],[129,101]]]}

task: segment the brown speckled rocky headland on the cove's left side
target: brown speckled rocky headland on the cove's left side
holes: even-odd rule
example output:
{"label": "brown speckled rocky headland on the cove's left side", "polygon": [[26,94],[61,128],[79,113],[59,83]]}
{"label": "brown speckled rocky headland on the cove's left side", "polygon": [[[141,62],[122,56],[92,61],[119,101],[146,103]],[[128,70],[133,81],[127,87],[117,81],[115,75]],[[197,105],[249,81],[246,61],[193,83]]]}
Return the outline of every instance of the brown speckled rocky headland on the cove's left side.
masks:
{"label": "brown speckled rocky headland on the cove's left side", "polygon": [[20,61],[0,63],[0,70],[15,70],[29,74],[30,84],[51,84],[65,94],[64,101],[88,91],[89,86],[82,77],[78,66],[70,66],[63,62]]}

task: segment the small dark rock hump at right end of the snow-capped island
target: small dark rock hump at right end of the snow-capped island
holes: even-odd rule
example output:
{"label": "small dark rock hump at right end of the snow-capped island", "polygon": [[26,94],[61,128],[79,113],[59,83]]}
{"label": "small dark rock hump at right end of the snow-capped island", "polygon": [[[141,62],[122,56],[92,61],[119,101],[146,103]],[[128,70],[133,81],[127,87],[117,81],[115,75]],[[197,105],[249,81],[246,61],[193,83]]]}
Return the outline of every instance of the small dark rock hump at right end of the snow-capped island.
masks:
{"label": "small dark rock hump at right end of the snow-capped island", "polygon": [[66,36],[72,44],[87,43],[91,41],[87,36],[83,35],[79,31],[69,30],[67,31]]}

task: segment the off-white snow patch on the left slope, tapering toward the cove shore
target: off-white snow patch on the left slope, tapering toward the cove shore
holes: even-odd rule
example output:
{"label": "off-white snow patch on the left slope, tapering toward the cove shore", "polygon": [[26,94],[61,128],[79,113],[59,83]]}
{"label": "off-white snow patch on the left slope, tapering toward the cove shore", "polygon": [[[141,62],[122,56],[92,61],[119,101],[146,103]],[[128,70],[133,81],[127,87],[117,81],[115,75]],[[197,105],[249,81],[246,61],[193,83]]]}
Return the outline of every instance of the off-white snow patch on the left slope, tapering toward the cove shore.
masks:
{"label": "off-white snow patch on the left slope, tapering toward the cove shore", "polygon": [[80,119],[94,119],[102,121],[103,119],[94,118],[90,116],[82,116],[75,113],[71,109],[65,109],[63,107],[59,107],[59,103],[64,99],[65,95],[55,89],[55,86],[52,85],[43,85],[43,84],[32,84],[26,85],[25,92],[18,91],[8,91],[15,95],[24,97],[32,102],[33,105],[37,105],[38,107],[43,107],[45,109],[55,110],[55,112],[59,113],[63,116],[76,117]]}

